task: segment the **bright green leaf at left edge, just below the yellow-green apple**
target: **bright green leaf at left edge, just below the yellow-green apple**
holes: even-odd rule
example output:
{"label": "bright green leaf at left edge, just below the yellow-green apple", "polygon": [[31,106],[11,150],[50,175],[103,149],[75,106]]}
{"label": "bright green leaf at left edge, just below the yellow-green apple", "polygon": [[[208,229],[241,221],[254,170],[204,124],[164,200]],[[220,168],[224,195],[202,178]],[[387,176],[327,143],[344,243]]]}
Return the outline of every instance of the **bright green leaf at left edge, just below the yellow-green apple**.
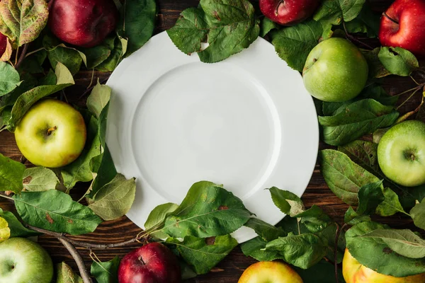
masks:
{"label": "bright green leaf at left edge, just below the yellow-green apple", "polygon": [[0,191],[11,190],[16,194],[20,193],[23,189],[24,171],[25,165],[0,154]]}

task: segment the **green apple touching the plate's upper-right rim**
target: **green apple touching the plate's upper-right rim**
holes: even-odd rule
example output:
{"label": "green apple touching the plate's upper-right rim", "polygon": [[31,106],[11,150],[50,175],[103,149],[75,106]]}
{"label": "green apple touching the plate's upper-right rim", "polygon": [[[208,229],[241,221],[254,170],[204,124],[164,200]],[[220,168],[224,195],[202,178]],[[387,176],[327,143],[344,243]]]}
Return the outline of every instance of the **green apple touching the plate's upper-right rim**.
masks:
{"label": "green apple touching the plate's upper-right rim", "polygon": [[368,62],[353,43],[333,37],[320,42],[302,70],[305,88],[315,98],[342,102],[358,96],[368,80]]}

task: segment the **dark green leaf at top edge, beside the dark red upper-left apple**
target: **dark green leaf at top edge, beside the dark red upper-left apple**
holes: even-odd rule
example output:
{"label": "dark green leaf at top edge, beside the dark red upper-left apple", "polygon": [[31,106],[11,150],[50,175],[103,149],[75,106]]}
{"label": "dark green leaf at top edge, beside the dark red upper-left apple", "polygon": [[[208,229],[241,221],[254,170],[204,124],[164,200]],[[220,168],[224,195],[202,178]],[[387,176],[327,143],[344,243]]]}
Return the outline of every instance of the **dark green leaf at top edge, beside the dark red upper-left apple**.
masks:
{"label": "dark green leaf at top edge, beside the dark red upper-left apple", "polygon": [[126,0],[120,8],[118,35],[128,39],[125,56],[145,45],[152,37],[157,18],[157,4],[154,0]]}

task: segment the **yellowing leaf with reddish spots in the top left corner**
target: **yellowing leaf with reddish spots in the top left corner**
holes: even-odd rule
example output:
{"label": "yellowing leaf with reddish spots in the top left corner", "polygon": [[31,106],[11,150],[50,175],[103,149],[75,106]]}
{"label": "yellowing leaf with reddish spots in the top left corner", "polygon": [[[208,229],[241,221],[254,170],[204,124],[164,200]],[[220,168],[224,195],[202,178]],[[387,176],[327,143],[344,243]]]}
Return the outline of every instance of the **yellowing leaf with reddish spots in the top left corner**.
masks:
{"label": "yellowing leaf with reddish spots in the top left corner", "polygon": [[35,40],[47,24],[45,0],[3,0],[0,2],[0,33],[22,46]]}

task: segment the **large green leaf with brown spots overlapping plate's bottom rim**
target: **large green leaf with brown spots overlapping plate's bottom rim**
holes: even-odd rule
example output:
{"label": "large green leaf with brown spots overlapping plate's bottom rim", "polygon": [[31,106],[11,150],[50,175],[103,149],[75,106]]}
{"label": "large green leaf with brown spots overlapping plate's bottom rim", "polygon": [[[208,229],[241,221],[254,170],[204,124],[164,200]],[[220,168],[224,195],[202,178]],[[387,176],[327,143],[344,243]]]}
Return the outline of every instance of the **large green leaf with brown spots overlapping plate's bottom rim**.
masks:
{"label": "large green leaf with brown spots overlapping plate's bottom rim", "polygon": [[169,236],[211,237],[232,233],[251,217],[238,197],[210,182],[192,185],[178,209],[166,217],[164,231]]}

